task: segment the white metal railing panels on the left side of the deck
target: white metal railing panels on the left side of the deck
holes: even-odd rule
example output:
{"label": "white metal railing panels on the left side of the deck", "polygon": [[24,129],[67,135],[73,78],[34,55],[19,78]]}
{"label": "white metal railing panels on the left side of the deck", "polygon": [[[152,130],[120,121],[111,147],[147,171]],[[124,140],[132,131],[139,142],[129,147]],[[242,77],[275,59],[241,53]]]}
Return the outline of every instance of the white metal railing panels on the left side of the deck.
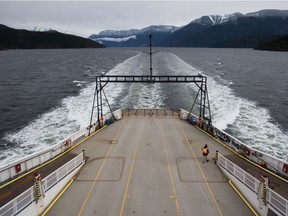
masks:
{"label": "white metal railing panels on the left side of the deck", "polygon": [[[70,174],[78,166],[83,163],[83,153],[80,153],[72,160],[58,168],[56,171],[44,178],[43,186],[45,193],[51,189],[54,185],[60,182],[64,177]],[[35,187],[32,186],[4,206],[0,208],[0,215],[10,216],[17,215],[27,206],[29,206],[36,199]]]}

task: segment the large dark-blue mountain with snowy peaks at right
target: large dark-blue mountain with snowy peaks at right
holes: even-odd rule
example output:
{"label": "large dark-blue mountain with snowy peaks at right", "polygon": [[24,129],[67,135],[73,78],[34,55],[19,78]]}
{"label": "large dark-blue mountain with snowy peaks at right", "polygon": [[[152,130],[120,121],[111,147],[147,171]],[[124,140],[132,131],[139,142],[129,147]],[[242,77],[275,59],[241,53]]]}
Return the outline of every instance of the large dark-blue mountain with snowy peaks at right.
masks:
{"label": "large dark-blue mountain with snowy peaks at right", "polygon": [[160,44],[177,47],[255,47],[288,34],[288,10],[210,15],[193,20]]}

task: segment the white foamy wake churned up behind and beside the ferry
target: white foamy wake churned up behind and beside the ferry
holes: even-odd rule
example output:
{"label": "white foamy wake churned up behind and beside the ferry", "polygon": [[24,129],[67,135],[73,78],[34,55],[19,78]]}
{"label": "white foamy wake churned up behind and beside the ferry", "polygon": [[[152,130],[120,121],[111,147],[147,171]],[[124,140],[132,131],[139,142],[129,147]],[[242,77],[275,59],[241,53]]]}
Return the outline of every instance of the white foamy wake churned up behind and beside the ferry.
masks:
{"label": "white foamy wake churned up behind and beside the ferry", "polygon": [[[199,71],[174,54],[159,52],[154,55],[155,75],[197,75]],[[101,72],[99,72],[100,75]],[[116,65],[107,75],[148,75],[149,56],[139,53]],[[268,110],[255,102],[237,97],[229,87],[230,81],[219,82],[219,76],[208,76],[208,91],[213,124],[226,130],[246,144],[275,157],[288,160],[285,147],[288,134],[271,121]],[[217,81],[216,81],[217,80]],[[78,96],[65,98],[59,107],[30,122],[21,130],[7,134],[5,139],[15,143],[4,150],[1,164],[47,148],[80,128],[89,125],[95,83],[81,82]],[[117,108],[184,108],[190,109],[196,95],[195,84],[112,84],[105,87],[105,94]],[[104,111],[109,112],[105,106]],[[195,113],[196,114],[196,113]],[[93,117],[96,120],[96,114]],[[0,164],[0,165],[1,165]]]}

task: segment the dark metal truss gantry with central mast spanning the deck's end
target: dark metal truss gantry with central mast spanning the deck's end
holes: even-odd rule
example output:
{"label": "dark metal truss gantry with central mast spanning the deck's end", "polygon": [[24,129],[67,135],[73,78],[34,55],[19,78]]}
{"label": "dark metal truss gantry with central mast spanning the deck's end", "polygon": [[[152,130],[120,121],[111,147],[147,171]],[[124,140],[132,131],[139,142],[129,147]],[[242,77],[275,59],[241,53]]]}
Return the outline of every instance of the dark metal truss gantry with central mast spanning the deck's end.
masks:
{"label": "dark metal truss gantry with central mast spanning the deck's end", "polygon": [[[156,52],[152,52],[152,35],[149,35],[149,46],[150,46],[150,73],[148,76],[129,76],[129,75],[120,75],[120,76],[96,76],[96,86],[95,86],[95,93],[93,99],[93,106],[90,118],[90,129],[92,128],[92,118],[94,114],[95,107],[97,108],[97,121],[98,126],[104,125],[103,121],[103,96],[108,104],[110,109],[111,115],[113,116],[113,112],[111,106],[108,102],[106,94],[104,92],[104,87],[108,83],[195,83],[198,87],[198,92],[196,98],[193,102],[193,105],[190,109],[188,114],[188,119],[191,117],[191,112],[195,104],[199,106],[199,118],[207,125],[212,124],[211,120],[211,112],[210,112],[210,104],[209,104],[209,97],[208,97],[208,90],[207,90],[207,77],[202,75],[196,76],[155,76],[153,75],[153,68],[152,68],[152,54]],[[96,101],[96,106],[95,106]],[[115,119],[115,118],[114,118]],[[100,121],[101,120],[101,121]],[[100,124],[99,124],[100,123]],[[89,135],[90,135],[89,129]]]}

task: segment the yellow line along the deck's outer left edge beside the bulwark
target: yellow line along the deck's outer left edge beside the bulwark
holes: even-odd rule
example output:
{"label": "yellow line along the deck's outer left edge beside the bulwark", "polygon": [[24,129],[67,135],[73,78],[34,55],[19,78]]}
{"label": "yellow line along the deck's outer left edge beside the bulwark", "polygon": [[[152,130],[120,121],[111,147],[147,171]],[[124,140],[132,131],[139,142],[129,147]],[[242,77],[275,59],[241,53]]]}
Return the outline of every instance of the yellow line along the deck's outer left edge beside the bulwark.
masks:
{"label": "yellow line along the deck's outer left edge beside the bulwark", "polygon": [[46,166],[46,165],[52,163],[53,161],[57,160],[58,158],[62,157],[62,156],[65,155],[65,154],[67,154],[68,152],[70,152],[71,150],[73,150],[74,148],[76,148],[77,146],[79,146],[80,144],[82,144],[84,141],[86,141],[87,139],[91,138],[92,136],[94,136],[95,134],[97,134],[98,132],[100,132],[101,130],[103,130],[103,129],[106,128],[106,127],[107,127],[107,125],[105,125],[104,127],[100,128],[99,130],[95,131],[95,132],[92,133],[90,136],[84,138],[84,139],[81,140],[79,143],[77,143],[77,144],[74,145],[73,147],[69,148],[69,149],[66,150],[65,152],[63,152],[63,153],[57,155],[56,157],[52,158],[51,160],[49,160],[49,161],[47,161],[47,162],[41,164],[40,166],[38,166],[38,167],[36,167],[36,168],[34,168],[34,169],[32,169],[32,170],[26,172],[26,173],[24,173],[23,175],[18,176],[17,178],[15,178],[15,179],[13,179],[13,180],[7,182],[6,184],[1,185],[1,186],[0,186],[0,189],[2,189],[2,188],[4,188],[4,187],[6,187],[6,186],[12,184],[12,183],[15,182],[15,181],[18,181],[19,179],[21,179],[21,178],[23,178],[23,177],[25,177],[25,176],[27,176],[27,175],[29,175],[29,174],[35,172],[35,171],[38,170],[38,169],[40,169],[40,168],[42,168],[42,167],[44,167],[44,166]]}

